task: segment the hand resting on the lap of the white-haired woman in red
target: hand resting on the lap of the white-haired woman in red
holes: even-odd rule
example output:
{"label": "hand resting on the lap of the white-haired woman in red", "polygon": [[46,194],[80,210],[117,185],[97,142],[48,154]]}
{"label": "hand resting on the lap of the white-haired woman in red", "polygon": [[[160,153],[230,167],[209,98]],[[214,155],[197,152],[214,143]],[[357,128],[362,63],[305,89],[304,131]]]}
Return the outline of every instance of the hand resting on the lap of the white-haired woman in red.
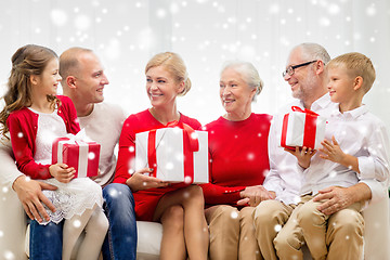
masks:
{"label": "hand resting on the lap of the white-haired woman in red", "polygon": [[262,185],[247,186],[239,195],[243,199],[239,199],[237,205],[248,204],[250,207],[258,206],[262,200],[275,198],[275,193],[266,191]]}

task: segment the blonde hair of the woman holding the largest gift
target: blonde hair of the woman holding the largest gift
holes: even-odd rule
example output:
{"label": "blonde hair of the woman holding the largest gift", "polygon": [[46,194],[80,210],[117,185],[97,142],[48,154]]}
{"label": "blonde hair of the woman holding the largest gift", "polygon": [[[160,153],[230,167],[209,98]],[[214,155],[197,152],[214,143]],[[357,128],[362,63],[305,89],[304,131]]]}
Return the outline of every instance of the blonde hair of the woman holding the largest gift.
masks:
{"label": "blonde hair of the woman holding the largest gift", "polygon": [[150,68],[164,66],[176,79],[177,82],[184,81],[184,89],[179,95],[185,95],[191,89],[191,80],[185,64],[181,56],[174,52],[161,52],[154,55],[145,67],[145,74]]}

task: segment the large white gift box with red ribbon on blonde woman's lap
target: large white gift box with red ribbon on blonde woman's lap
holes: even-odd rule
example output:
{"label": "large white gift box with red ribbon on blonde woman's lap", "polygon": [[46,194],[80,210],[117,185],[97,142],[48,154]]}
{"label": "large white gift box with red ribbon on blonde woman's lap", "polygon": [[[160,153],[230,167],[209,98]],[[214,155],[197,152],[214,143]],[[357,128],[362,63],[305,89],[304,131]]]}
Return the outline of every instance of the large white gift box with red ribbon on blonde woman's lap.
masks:
{"label": "large white gift box with red ribbon on blonde woman's lap", "polygon": [[167,182],[208,183],[208,133],[177,121],[135,134],[135,170]]}

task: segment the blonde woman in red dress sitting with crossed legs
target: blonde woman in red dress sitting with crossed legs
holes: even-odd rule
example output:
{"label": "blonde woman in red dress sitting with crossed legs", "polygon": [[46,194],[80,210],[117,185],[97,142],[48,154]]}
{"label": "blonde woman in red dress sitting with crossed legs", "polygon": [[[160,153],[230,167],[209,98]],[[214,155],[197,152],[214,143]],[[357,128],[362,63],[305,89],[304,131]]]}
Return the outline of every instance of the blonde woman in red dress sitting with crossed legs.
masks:
{"label": "blonde woman in red dress sitting with crossed legs", "polygon": [[188,255],[190,259],[206,260],[208,230],[202,188],[187,184],[167,186],[157,178],[144,174],[152,172],[151,169],[134,172],[129,164],[135,155],[136,132],[155,129],[173,120],[194,129],[200,127],[197,120],[177,109],[177,96],[184,95],[191,88],[185,65],[178,54],[166,52],[155,55],[147,63],[145,74],[146,93],[152,107],[131,115],[125,121],[114,182],[127,185],[117,185],[118,192],[129,187],[133,192],[138,220],[162,224],[160,259],[186,259]]}

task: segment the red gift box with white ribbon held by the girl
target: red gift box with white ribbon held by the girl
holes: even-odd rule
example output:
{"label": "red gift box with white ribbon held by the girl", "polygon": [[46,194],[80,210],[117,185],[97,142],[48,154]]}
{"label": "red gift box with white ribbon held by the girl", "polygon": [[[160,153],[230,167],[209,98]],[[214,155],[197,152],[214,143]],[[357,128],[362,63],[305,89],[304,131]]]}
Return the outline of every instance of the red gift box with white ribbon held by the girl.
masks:
{"label": "red gift box with white ribbon held by the girl", "polygon": [[76,169],[75,178],[95,177],[99,172],[101,145],[87,141],[84,132],[54,140],[52,164],[63,162]]}

